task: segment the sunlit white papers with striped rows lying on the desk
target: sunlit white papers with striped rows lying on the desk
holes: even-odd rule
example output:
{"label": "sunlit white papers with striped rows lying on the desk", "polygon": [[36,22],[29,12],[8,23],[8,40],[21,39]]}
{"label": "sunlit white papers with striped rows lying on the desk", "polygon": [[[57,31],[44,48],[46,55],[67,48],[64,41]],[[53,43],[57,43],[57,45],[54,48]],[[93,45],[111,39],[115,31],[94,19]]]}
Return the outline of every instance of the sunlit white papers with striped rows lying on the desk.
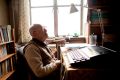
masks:
{"label": "sunlit white papers with striped rows lying on the desk", "polygon": [[90,47],[92,45],[88,44],[69,44],[65,47],[67,48],[67,57],[69,63],[77,64],[84,62],[86,60],[90,60],[90,58],[100,55],[99,52],[97,52],[93,47]]}

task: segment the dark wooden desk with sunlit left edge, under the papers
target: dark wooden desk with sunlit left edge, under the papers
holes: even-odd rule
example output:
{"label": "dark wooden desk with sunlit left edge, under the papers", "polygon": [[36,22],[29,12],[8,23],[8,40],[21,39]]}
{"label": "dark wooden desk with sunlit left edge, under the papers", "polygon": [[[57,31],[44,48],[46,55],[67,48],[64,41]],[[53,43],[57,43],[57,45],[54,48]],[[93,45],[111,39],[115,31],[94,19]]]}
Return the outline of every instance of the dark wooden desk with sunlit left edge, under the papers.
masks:
{"label": "dark wooden desk with sunlit left edge, under the papers", "polygon": [[[82,44],[83,45],[83,44]],[[86,44],[85,44],[86,45]],[[61,47],[61,57],[65,71],[62,80],[108,80],[109,71],[96,68],[73,68],[69,65],[66,47]]]}

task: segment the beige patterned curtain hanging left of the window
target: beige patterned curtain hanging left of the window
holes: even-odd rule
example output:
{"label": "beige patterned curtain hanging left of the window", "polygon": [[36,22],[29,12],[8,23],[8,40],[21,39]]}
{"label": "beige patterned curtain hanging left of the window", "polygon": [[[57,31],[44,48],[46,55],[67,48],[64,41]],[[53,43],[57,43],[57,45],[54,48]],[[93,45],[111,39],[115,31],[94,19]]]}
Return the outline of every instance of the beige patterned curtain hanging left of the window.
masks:
{"label": "beige patterned curtain hanging left of the window", "polygon": [[26,43],[31,37],[29,34],[30,27],[30,3],[29,0],[12,0],[12,14],[15,27],[16,43]]}

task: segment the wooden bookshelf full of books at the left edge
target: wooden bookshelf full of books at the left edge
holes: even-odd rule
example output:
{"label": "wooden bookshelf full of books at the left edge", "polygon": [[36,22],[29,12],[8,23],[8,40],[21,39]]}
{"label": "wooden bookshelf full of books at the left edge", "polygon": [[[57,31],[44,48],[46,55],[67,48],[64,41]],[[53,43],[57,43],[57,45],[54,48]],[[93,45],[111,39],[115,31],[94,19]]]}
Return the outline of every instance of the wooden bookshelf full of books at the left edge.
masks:
{"label": "wooden bookshelf full of books at the left edge", "polygon": [[15,63],[14,29],[11,25],[0,25],[0,80],[7,80],[14,74]]}

